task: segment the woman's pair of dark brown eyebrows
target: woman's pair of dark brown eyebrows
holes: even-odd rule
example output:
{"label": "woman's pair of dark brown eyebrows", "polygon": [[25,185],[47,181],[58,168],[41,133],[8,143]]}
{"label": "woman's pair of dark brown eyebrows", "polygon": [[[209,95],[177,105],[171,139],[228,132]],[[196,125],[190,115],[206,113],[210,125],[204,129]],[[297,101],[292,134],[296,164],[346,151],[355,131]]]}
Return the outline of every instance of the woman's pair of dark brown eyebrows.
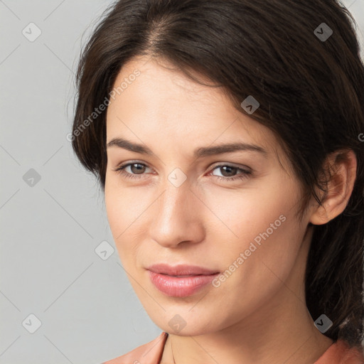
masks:
{"label": "woman's pair of dark brown eyebrows", "polygon": [[[122,149],[127,149],[128,151],[134,151],[140,154],[153,155],[154,153],[148,146],[142,144],[136,144],[132,141],[122,138],[114,138],[107,143],[107,148],[111,146],[117,146]],[[229,144],[219,144],[216,146],[201,146],[193,152],[195,158],[201,158],[203,156],[214,156],[217,154],[232,153],[234,151],[257,151],[264,157],[267,157],[268,152],[261,146],[255,144],[247,144],[242,142],[229,143]]]}

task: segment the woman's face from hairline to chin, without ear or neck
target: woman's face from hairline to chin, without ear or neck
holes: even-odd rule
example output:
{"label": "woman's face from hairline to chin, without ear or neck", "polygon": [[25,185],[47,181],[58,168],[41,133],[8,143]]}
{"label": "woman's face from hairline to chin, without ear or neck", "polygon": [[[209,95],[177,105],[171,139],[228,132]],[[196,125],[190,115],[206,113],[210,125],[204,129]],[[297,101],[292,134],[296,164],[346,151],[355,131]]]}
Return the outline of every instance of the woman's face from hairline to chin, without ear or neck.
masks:
{"label": "woman's face from hairline to chin, without ear or neck", "polygon": [[[274,134],[221,89],[155,61],[134,58],[120,85],[107,109],[105,203],[124,269],[156,325],[181,336],[219,331],[299,296],[309,217],[296,218],[301,190]],[[218,153],[225,144],[241,148]],[[220,274],[168,277],[151,274],[152,264]]]}

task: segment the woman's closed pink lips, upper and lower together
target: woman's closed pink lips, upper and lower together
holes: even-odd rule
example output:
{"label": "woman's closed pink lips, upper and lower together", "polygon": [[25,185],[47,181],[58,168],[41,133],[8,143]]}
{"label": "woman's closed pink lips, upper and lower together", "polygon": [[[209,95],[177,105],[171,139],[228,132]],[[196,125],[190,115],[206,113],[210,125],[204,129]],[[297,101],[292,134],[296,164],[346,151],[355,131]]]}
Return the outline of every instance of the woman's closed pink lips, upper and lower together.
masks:
{"label": "woman's closed pink lips, upper and lower together", "polygon": [[[191,265],[154,264],[148,268],[151,283],[171,297],[191,296],[218,276],[219,272]],[[212,287],[212,286],[211,286]]]}

